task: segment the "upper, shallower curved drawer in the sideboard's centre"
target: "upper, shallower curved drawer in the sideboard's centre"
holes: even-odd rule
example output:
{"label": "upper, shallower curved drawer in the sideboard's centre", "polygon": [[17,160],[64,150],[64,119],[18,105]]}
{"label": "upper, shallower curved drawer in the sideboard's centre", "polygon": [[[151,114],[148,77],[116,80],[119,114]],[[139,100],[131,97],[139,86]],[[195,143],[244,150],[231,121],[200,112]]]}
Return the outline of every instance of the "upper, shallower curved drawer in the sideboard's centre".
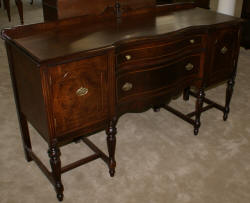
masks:
{"label": "upper, shallower curved drawer in the sideboard's centre", "polygon": [[137,60],[159,58],[201,46],[202,36],[195,35],[171,42],[156,42],[137,45],[117,55],[117,64],[127,64]]}

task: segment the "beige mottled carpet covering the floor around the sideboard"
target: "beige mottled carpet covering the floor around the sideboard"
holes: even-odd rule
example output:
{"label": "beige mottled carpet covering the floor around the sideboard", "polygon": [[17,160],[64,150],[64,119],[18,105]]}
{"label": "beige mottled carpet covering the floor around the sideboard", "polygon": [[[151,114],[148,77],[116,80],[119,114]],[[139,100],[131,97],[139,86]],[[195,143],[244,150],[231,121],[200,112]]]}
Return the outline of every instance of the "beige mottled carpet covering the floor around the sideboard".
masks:
{"label": "beige mottled carpet covering the floor around the sideboard", "polygon": [[[42,19],[40,4],[25,4],[25,22]],[[1,28],[9,23],[0,9]],[[126,114],[118,123],[117,173],[110,178],[96,160],[63,175],[64,202],[73,203],[248,203],[250,200],[250,51],[241,49],[231,114],[202,115],[193,128],[166,111]],[[207,92],[224,103],[225,86]],[[185,111],[194,100],[173,105]],[[3,41],[0,40],[0,202],[57,202],[53,187],[34,162],[24,159]],[[47,144],[31,129],[34,150],[48,164]],[[92,140],[106,151],[106,136]],[[62,163],[90,154],[83,143],[62,148]]]}

